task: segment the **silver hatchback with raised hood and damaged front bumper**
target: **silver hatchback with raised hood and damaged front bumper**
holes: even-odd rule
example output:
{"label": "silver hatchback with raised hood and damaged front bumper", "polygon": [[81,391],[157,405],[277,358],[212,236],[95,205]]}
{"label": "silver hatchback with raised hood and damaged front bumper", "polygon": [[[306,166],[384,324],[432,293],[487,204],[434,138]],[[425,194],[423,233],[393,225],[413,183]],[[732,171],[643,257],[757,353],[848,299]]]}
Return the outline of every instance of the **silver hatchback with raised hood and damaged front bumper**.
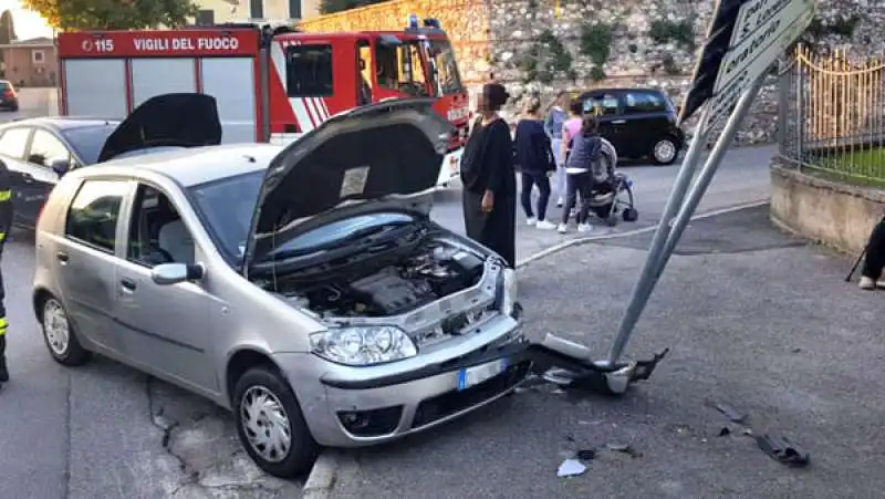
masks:
{"label": "silver hatchback with raised hood and damaged front bumper", "polygon": [[[431,104],[366,106],[285,148],[66,174],[37,228],[50,354],[95,352],[231,409],[279,477],[321,446],[387,441],[511,392],[530,368],[514,273],[428,217],[449,133]],[[129,129],[147,145],[158,126]]]}

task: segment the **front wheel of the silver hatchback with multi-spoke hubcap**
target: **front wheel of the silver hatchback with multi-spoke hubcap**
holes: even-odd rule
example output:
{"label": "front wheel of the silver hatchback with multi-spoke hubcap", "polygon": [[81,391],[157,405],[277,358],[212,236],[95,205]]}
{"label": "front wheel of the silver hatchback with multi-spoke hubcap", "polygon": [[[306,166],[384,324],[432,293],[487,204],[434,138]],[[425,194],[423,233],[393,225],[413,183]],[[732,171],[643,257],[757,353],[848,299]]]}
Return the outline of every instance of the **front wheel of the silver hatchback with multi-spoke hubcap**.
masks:
{"label": "front wheel of the silver hatchback with multi-spoke hubcap", "polygon": [[259,468],[279,478],[310,471],[320,454],[301,407],[273,368],[252,367],[233,389],[237,434]]}

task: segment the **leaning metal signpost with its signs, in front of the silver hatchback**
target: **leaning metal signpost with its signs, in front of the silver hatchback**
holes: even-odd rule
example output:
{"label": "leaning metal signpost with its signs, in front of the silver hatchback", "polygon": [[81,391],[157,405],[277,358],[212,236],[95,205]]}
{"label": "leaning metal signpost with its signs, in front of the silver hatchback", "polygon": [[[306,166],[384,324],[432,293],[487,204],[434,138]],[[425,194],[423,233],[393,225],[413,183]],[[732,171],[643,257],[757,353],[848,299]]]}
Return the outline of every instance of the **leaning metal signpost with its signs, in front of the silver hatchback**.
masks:
{"label": "leaning metal signpost with its signs, in front of the silver hatchback", "polygon": [[[660,273],[707,191],[769,69],[805,31],[813,15],[814,0],[717,2],[707,42],[699,52],[691,87],[679,116],[681,125],[701,111],[697,133],[674,181],[606,364],[614,365],[623,353]],[[710,156],[691,185],[704,144],[711,138],[716,125],[726,117],[726,125]]]}

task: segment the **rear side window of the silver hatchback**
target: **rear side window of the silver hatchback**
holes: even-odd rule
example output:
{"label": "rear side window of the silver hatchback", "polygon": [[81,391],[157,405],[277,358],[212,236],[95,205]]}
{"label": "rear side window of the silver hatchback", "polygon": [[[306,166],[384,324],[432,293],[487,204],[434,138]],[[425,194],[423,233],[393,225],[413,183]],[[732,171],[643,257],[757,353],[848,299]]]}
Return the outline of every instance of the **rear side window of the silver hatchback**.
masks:
{"label": "rear side window of the silver hatchback", "polygon": [[95,249],[114,252],[117,220],[129,185],[122,180],[86,180],[71,207],[64,233]]}

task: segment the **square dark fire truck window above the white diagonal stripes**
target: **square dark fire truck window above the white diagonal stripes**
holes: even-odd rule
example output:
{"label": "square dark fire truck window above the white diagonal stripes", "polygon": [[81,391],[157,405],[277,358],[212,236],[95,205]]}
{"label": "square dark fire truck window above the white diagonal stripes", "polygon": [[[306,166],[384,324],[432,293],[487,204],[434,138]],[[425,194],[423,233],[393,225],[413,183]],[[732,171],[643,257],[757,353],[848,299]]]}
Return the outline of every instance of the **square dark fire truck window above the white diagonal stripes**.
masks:
{"label": "square dark fire truck window above the white diagonal stripes", "polygon": [[332,45],[290,46],[285,69],[290,97],[332,95]]}

